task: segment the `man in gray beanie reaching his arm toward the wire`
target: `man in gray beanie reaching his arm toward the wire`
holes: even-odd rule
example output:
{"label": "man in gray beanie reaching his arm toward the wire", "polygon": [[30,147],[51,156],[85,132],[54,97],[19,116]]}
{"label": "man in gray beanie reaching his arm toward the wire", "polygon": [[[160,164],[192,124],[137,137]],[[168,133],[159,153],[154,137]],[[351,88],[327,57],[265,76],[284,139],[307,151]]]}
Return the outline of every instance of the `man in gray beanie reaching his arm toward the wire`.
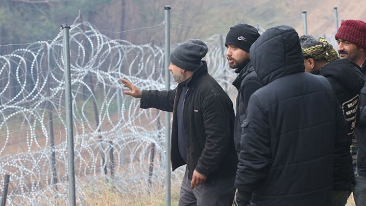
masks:
{"label": "man in gray beanie reaching his arm toward the wire", "polygon": [[201,58],[207,46],[188,40],[171,52],[171,70],[178,86],[174,90],[141,91],[121,79],[141,98],[141,108],[173,112],[171,164],[173,171],[185,165],[179,206],[229,206],[234,199],[237,166],[233,128],[233,104],[219,83],[207,73]]}

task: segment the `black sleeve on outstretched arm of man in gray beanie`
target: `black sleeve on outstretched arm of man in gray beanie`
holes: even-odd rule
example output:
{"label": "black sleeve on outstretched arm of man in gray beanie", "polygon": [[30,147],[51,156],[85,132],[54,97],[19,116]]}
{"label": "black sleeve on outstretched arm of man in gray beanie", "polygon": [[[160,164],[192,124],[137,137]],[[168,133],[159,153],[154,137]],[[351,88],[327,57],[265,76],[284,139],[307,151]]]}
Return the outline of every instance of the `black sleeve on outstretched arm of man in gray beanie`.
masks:
{"label": "black sleeve on outstretched arm of man in gray beanie", "polygon": [[175,91],[143,90],[140,108],[157,108],[163,111],[173,111]]}

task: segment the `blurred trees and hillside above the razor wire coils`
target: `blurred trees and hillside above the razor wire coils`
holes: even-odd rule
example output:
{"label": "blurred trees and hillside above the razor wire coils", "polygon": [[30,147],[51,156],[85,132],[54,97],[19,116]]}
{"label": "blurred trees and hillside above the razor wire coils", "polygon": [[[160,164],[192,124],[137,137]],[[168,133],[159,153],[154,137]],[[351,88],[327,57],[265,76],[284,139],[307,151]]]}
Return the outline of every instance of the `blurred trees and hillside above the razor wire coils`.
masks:
{"label": "blurred trees and hillside above the razor wire coils", "polygon": [[[164,44],[164,5],[171,6],[171,43],[190,38],[226,35],[243,22],[264,29],[293,26],[303,34],[301,13],[307,11],[308,34],[331,35],[344,19],[366,21],[366,0],[0,0],[0,54],[22,43],[52,40],[61,24],[90,22],[112,39],[133,44]],[[80,13],[79,13],[80,12]],[[79,16],[81,14],[81,16]],[[149,27],[139,30],[136,28]]]}

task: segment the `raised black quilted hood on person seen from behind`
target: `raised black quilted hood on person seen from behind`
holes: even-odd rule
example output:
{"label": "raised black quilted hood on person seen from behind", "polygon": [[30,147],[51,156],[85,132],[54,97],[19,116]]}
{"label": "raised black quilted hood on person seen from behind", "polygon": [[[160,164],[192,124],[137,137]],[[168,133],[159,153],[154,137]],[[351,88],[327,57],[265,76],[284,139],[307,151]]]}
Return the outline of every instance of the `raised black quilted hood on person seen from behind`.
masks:
{"label": "raised black quilted hood on person seen from behind", "polygon": [[305,70],[298,34],[290,26],[267,29],[250,47],[250,59],[265,85]]}

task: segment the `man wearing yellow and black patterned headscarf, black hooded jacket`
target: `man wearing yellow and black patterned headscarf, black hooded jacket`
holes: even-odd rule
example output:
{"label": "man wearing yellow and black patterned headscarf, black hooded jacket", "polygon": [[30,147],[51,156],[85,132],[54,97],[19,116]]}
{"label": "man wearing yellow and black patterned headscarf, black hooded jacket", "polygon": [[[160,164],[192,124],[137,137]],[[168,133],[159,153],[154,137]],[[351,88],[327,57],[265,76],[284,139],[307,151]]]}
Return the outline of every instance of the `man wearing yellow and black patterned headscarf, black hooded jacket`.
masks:
{"label": "man wearing yellow and black patterned headscarf, black hooded jacket", "polygon": [[[347,120],[349,145],[357,123],[360,92],[365,84],[361,68],[349,59],[339,59],[338,53],[323,38],[311,35],[300,37],[305,71],[324,76],[331,83]],[[351,159],[333,171],[333,206],[344,206],[352,188],[353,165]]]}

